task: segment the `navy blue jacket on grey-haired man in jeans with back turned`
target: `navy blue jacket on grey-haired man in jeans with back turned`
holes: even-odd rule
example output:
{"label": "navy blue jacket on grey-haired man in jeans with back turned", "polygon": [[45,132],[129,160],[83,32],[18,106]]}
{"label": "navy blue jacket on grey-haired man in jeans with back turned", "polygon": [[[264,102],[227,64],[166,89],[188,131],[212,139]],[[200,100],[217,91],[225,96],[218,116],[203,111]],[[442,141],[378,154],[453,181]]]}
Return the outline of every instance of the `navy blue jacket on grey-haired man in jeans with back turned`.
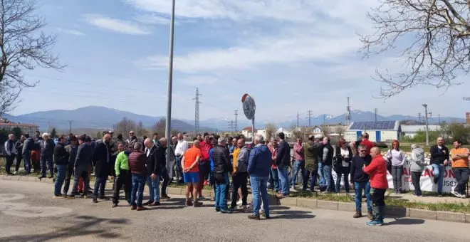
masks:
{"label": "navy blue jacket on grey-haired man in jeans with back turned", "polygon": [[269,177],[269,172],[271,172],[271,152],[266,144],[256,144],[251,149],[248,160],[248,172],[251,177]]}

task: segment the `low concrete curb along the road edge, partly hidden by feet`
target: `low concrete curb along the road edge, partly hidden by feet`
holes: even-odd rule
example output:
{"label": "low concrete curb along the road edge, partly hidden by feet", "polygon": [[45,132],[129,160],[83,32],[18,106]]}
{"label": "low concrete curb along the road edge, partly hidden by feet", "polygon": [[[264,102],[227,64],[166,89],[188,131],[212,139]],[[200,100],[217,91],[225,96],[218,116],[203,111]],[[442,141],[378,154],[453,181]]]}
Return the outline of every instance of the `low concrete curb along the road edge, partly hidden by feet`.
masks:
{"label": "low concrete curb along the road edge, partly hidden by feet", "polygon": [[[0,180],[7,181],[34,181],[53,184],[53,179],[41,179],[37,177],[20,177],[20,176],[0,176]],[[94,182],[90,182],[90,186]],[[113,184],[107,183],[106,188],[110,189]],[[148,186],[145,186],[145,191],[148,191]],[[169,195],[184,195],[186,189],[177,187],[168,187]],[[213,197],[213,190],[202,190],[202,195],[206,197]],[[251,194],[248,195],[248,200],[251,200]],[[303,199],[295,197],[286,197],[283,199],[277,199],[275,196],[269,196],[269,205],[282,205],[282,206],[296,206],[305,209],[328,209],[334,211],[355,211],[355,203],[339,202],[339,201],[325,201],[316,199]],[[362,203],[362,212],[367,213],[367,206]],[[470,223],[470,214],[455,213],[449,211],[430,211],[424,209],[409,209],[403,207],[386,206],[385,214],[389,217],[409,217],[415,219],[428,219],[437,221],[448,221],[456,223]],[[352,216],[352,214],[351,214]]]}

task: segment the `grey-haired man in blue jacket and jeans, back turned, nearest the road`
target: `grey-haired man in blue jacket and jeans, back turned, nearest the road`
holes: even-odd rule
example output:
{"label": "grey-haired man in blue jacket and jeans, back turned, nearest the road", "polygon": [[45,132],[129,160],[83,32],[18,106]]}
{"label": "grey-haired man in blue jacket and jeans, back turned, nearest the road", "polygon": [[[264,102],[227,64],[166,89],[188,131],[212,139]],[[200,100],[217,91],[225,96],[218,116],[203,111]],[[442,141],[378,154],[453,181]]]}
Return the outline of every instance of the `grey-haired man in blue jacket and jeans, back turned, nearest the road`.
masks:
{"label": "grey-haired man in blue jacket and jeans, back turned, nearest the road", "polygon": [[263,135],[254,137],[255,146],[251,149],[248,161],[248,172],[250,174],[251,193],[253,194],[253,214],[249,219],[259,220],[259,209],[261,209],[261,199],[263,200],[263,216],[269,219],[269,201],[267,183],[269,172],[271,171],[271,152],[263,142]]}

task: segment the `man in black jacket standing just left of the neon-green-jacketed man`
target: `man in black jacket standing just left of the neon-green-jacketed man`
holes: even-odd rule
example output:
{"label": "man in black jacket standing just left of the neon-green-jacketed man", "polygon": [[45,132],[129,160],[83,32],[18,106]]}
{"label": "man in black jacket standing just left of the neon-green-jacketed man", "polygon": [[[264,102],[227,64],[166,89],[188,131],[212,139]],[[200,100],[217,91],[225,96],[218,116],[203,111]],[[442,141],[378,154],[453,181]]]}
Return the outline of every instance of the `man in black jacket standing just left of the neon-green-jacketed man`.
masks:
{"label": "man in black jacket standing just left of the neon-green-jacketed man", "polygon": [[95,150],[93,151],[93,165],[95,166],[95,187],[93,189],[93,203],[98,203],[99,199],[109,200],[105,197],[106,179],[110,173],[111,162],[111,149],[110,149],[111,135],[106,133],[103,140],[97,142]]}

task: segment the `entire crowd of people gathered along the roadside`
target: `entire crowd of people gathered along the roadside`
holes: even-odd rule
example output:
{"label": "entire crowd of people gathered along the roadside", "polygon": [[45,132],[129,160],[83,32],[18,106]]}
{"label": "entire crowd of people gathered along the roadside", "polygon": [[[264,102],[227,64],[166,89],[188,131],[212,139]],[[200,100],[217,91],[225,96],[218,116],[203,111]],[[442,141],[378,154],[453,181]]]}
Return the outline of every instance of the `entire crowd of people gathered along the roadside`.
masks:
{"label": "entire crowd of people gathered along the roadside", "polygon": [[[276,191],[278,199],[290,195],[291,188],[297,189],[298,172],[302,174],[302,190],[323,193],[344,189],[350,191],[351,182],[355,191],[355,218],[362,217],[362,196],[367,204],[369,225],[382,225],[385,211],[385,191],[388,189],[387,169],[392,174],[395,193],[401,191],[401,171],[404,152],[399,149],[399,142],[392,143],[385,156],[380,148],[368,140],[367,133],[362,139],[348,144],[339,140],[336,147],[330,137],[310,135],[308,141],[297,139],[291,147],[281,132],[276,138],[265,141],[263,136],[255,135],[251,144],[246,144],[243,136],[220,137],[209,133],[198,135],[190,145],[182,134],[159,138],[142,137],[138,140],[134,132],[123,140],[122,135],[113,138],[113,132],[103,132],[103,138],[93,141],[87,135],[59,136],[55,141],[50,135],[36,132],[34,138],[21,135],[14,142],[14,135],[9,135],[5,142],[6,172],[11,174],[11,166],[16,159],[15,174],[23,159],[26,174],[38,172],[39,178],[52,178],[56,172],[54,196],[75,199],[77,196],[92,196],[93,203],[98,200],[110,200],[105,196],[105,185],[113,177],[112,206],[120,202],[123,189],[125,201],[132,210],[146,210],[146,206],[160,206],[160,201],[170,199],[167,186],[172,182],[186,184],[187,206],[202,206],[207,200],[202,194],[204,186],[214,189],[215,210],[221,214],[249,209],[247,201],[248,182],[253,199],[253,213],[249,219],[269,219],[268,189]],[[169,154],[168,154],[169,153]],[[167,154],[169,159],[167,159]],[[443,167],[451,161],[458,182],[452,194],[464,197],[465,184],[469,179],[469,151],[461,147],[461,142],[454,142],[454,149],[444,146],[442,138],[431,147],[431,164],[434,182],[439,184],[442,194]],[[293,162],[291,161],[293,158]],[[419,178],[424,169],[424,150],[412,145],[410,159],[415,194],[421,196]],[[55,164],[55,168],[54,168]],[[333,181],[332,171],[338,174]],[[90,176],[95,175],[95,184],[90,188]],[[71,179],[73,186],[68,194]],[[231,177],[231,179],[230,179]],[[160,182],[162,186],[160,187]],[[143,202],[145,185],[149,188],[150,199]],[[92,191],[93,190],[93,191]],[[362,194],[362,191],[364,193]],[[231,200],[230,204],[227,201]]]}

